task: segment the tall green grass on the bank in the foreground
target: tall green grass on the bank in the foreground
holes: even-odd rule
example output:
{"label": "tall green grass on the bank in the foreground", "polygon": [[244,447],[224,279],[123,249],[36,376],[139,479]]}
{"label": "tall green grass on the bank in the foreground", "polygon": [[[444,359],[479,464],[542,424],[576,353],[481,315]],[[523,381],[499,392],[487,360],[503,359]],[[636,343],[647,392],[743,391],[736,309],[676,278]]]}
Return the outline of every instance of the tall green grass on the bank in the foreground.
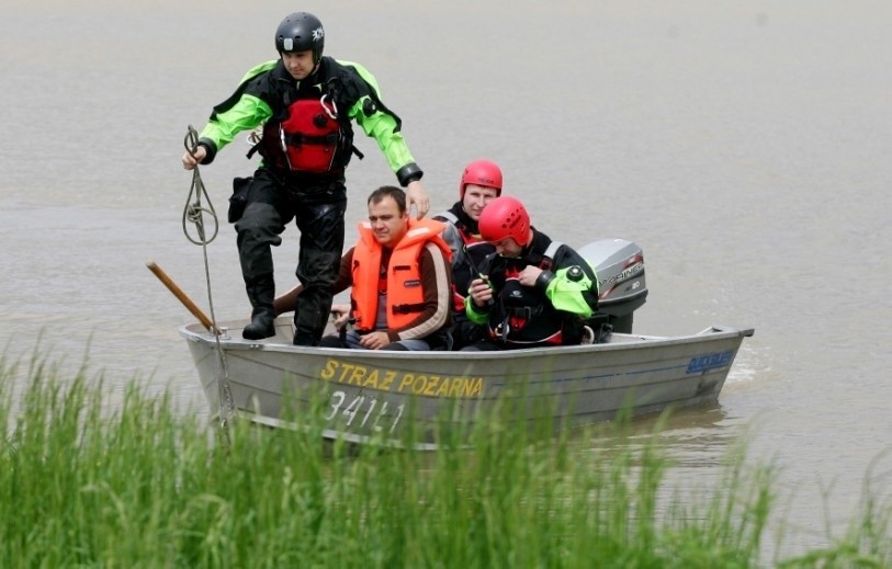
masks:
{"label": "tall green grass on the bank in the foreground", "polygon": [[[472,448],[323,443],[239,422],[227,443],[171,397],[45,365],[13,412],[0,360],[0,567],[756,567],[770,468],[666,502],[658,439],[582,448],[500,417]],[[620,433],[620,434],[617,434]],[[578,437],[576,437],[578,439]],[[892,564],[890,509],[787,567]]]}

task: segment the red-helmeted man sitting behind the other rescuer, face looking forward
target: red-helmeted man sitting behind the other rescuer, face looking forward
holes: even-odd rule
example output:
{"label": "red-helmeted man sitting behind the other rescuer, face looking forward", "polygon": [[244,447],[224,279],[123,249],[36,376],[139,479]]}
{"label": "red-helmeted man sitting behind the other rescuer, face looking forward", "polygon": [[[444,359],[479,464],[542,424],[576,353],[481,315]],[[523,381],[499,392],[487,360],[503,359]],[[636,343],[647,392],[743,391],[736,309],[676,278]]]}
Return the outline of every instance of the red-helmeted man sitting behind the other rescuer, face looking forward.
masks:
{"label": "red-helmeted man sitting behind the other rescuer, face looking forward", "polygon": [[501,195],[501,169],[492,160],[468,162],[459,180],[459,201],[433,216],[447,223],[443,239],[452,250],[452,349],[461,350],[484,337],[484,326],[467,319],[464,309],[471,282],[478,278],[479,266],[495,248],[483,240],[477,229],[483,208]]}

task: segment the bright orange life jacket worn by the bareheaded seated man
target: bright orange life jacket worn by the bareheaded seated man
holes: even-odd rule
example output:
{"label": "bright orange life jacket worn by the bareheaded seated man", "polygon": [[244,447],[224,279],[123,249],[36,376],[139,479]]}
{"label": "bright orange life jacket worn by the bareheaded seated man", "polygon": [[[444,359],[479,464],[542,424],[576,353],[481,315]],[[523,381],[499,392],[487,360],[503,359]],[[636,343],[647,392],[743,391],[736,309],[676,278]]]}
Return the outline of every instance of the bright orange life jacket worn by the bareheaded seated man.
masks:
{"label": "bright orange life jacket worn by the bareheaded seated man", "polygon": [[[437,244],[449,262],[452,252],[440,237],[441,221],[409,218],[409,230],[391,253],[387,265],[387,329],[408,326],[425,309],[419,258],[429,242]],[[359,224],[360,239],[353,248],[353,287],[350,304],[359,330],[373,330],[377,318],[381,243],[368,221]]]}

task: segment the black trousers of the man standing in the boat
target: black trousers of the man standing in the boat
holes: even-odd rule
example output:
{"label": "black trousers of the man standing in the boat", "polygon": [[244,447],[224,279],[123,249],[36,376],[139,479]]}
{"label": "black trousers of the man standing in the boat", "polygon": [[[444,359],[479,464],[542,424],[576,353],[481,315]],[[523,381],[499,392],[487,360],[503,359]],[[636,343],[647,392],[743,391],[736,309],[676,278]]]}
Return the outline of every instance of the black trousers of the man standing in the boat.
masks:
{"label": "black trousers of the man standing in the boat", "polygon": [[343,177],[297,179],[260,169],[250,181],[236,223],[245,281],[273,274],[270,247],[282,244],[280,236],[292,219],[301,231],[295,274],[304,289],[294,312],[296,344],[316,345],[325,330],[343,254],[346,210]]}

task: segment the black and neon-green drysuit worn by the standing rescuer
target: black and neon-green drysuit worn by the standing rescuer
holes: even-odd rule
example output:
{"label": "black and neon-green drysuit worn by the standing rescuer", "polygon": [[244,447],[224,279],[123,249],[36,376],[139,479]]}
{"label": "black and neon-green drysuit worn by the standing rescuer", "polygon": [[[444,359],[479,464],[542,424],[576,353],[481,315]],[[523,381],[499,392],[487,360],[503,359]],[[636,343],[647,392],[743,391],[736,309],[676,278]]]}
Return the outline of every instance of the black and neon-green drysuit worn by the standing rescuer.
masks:
{"label": "black and neon-green drysuit worn by the standing rescuer", "polygon": [[[321,100],[338,123],[334,157],[327,171],[301,171],[287,160],[285,136],[280,126],[290,120],[298,102]],[[321,115],[321,113],[319,113]],[[324,120],[325,116],[313,117]],[[248,179],[236,179],[229,220],[235,223],[241,273],[255,312],[272,311],[275,285],[270,246],[282,242],[280,234],[292,219],[301,231],[296,275],[303,285],[294,315],[295,344],[316,345],[331,307],[331,285],[343,252],[347,193],[345,168],[351,155],[351,123],[373,137],[404,187],[420,180],[400,133],[399,117],[380,99],[375,78],[362,66],[323,57],[318,68],[296,81],[281,59],[248,71],[233,95],[214,107],[199,144],[206,149],[203,163],[244,130],[262,127],[255,150],[263,157]],[[301,144],[300,135],[289,144]],[[310,137],[304,143],[313,144]]]}

